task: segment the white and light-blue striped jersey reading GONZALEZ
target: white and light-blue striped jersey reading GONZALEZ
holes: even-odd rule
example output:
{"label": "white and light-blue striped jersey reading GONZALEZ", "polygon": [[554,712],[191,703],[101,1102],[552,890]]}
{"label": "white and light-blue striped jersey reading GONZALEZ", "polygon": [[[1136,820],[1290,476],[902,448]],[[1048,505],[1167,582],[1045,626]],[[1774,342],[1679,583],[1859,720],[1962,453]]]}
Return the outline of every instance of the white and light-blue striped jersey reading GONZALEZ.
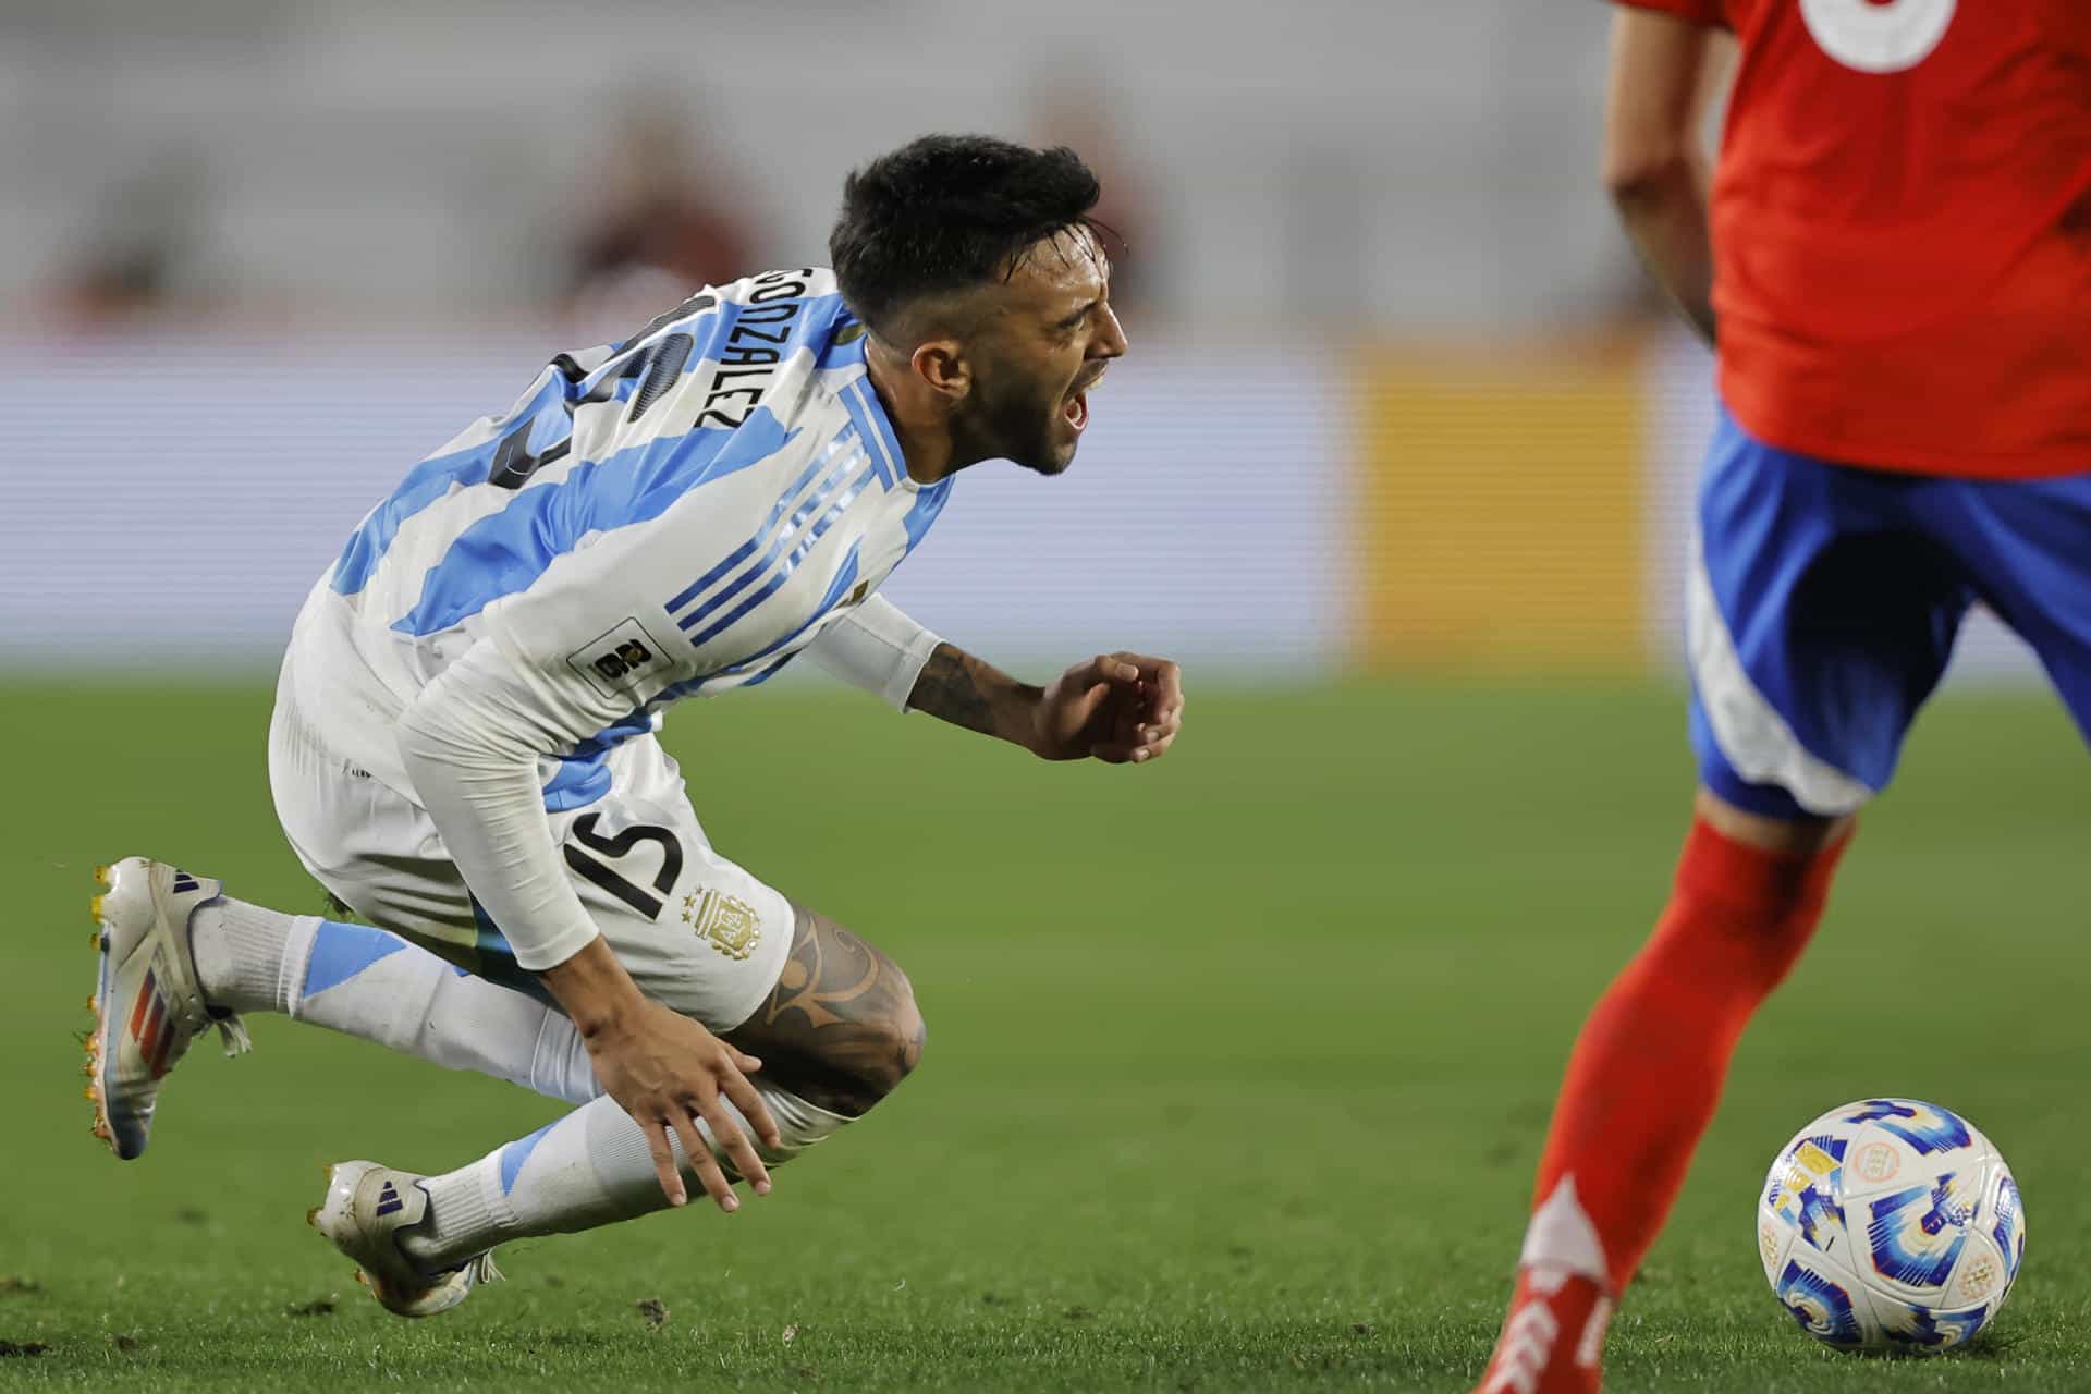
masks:
{"label": "white and light-blue striped jersey reading GONZALEZ", "polygon": [[759,683],[864,602],[949,481],[916,485],[822,270],[705,288],[554,357],[370,510],[293,635],[299,708],[412,794],[393,727],[481,640],[529,696],[546,807],[684,696]]}

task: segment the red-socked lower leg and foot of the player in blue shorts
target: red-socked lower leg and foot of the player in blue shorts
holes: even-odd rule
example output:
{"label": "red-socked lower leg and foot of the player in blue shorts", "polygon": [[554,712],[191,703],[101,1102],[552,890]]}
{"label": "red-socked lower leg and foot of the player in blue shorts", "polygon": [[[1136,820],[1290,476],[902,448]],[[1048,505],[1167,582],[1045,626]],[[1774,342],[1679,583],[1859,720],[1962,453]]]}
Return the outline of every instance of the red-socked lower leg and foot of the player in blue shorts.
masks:
{"label": "red-socked lower leg and foot of the player in blue shorts", "polygon": [[1700,794],[1671,903],[1568,1060],[1483,1394],[1598,1388],[1612,1300],[1669,1218],[1742,1028],[1815,932],[1846,830]]}

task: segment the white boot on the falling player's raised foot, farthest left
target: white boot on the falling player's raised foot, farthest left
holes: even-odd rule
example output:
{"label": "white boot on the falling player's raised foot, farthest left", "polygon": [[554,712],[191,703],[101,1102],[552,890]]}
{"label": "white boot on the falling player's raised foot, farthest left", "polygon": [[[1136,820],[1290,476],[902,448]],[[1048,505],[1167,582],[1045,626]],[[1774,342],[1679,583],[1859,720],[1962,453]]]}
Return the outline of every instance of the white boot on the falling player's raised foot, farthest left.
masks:
{"label": "white boot on the falling player's raised foot, farthest left", "polygon": [[159,1081],[207,1026],[226,1039],[226,1055],[253,1045],[236,1014],[203,1001],[188,947],[188,917],[215,901],[224,882],[144,857],[96,867],[94,878],[102,884],[90,901],[100,972],[88,999],[88,1097],[94,1135],[130,1160],[153,1135]]}

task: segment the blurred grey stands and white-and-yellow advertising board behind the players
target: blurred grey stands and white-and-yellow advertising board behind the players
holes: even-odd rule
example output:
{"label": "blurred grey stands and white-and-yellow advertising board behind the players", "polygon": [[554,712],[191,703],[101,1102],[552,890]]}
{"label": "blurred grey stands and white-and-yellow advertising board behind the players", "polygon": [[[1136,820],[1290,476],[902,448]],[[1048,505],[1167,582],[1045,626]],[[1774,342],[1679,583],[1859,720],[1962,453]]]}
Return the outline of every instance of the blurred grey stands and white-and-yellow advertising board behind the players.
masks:
{"label": "blurred grey stands and white-and-yellow advertising board behind the players", "polygon": [[1598,190],[1602,75],[1602,10],[1524,0],[17,0],[0,660],[266,665],[544,357],[822,261],[853,163],[966,127],[1096,163],[1135,355],[901,604],[1244,677],[1664,669],[1708,368]]}

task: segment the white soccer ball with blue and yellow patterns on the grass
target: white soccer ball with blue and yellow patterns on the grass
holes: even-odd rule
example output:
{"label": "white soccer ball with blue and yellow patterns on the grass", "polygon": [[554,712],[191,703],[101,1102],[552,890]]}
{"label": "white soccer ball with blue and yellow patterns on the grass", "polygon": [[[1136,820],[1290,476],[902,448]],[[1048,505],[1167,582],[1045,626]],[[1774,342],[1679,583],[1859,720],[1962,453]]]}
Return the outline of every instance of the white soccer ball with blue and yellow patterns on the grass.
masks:
{"label": "white soccer ball with blue and yellow patterns on the grass", "polygon": [[2026,1210],[1997,1147],[1936,1103],[1861,1099],[1779,1149],[1756,1250],[1800,1329],[1838,1350],[1938,1352],[1997,1315]]}

